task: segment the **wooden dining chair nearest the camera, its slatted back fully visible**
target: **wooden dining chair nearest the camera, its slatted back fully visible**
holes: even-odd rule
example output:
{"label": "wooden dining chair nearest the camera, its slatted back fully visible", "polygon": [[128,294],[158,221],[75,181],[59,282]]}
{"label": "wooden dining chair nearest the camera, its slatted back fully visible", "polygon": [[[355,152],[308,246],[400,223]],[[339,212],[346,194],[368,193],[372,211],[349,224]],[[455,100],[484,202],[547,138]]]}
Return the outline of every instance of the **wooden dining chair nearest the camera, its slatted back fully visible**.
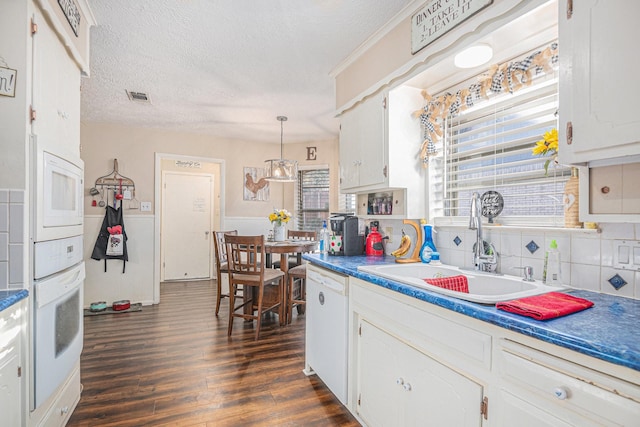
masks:
{"label": "wooden dining chair nearest the camera, its slatted back fully visible", "polygon": [[[262,315],[277,310],[280,325],[285,324],[286,304],[284,300],[284,272],[265,267],[264,235],[234,236],[225,234],[229,271],[229,329],[231,336],[233,320],[240,317],[256,320],[255,339],[260,337]],[[265,289],[275,292],[265,292]],[[275,288],[275,289],[274,289]],[[242,295],[242,304],[236,305],[237,296]],[[265,295],[270,298],[265,300]],[[266,306],[264,306],[266,304]],[[242,310],[238,312],[238,310]],[[255,314],[254,314],[255,310]]]}

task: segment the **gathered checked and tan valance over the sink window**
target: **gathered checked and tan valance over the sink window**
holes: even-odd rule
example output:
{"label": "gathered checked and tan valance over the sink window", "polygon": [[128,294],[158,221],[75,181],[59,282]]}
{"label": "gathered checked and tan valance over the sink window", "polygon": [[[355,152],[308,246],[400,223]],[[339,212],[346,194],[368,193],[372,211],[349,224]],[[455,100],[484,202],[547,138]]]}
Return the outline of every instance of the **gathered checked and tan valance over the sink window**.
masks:
{"label": "gathered checked and tan valance over the sink window", "polygon": [[553,66],[557,62],[558,43],[553,42],[521,60],[493,65],[486,73],[478,76],[477,82],[456,93],[446,92],[432,97],[423,90],[425,105],[413,113],[422,127],[420,158],[423,166],[428,166],[429,157],[437,154],[435,144],[442,138],[442,121],[446,117],[457,116],[479,99],[489,99],[490,95],[503,92],[513,93],[529,86],[535,75],[553,72]]}

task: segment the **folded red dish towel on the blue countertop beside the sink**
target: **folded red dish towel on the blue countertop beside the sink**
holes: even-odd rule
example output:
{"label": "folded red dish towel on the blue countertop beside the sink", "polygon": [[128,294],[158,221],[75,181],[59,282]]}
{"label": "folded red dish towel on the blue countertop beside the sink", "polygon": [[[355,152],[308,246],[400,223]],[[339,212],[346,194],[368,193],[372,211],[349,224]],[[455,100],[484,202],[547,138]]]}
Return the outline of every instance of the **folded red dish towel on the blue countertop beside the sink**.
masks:
{"label": "folded red dish towel on the blue countertop beside the sink", "polygon": [[593,302],[561,292],[549,292],[544,295],[499,302],[496,308],[536,320],[547,320],[566,316],[593,306]]}

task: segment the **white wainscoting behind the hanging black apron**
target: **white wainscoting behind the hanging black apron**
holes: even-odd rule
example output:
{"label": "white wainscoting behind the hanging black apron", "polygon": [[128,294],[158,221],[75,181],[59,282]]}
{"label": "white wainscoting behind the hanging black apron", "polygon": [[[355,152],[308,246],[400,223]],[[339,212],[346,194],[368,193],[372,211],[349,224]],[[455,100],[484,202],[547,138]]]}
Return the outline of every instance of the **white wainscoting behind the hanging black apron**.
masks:
{"label": "white wainscoting behind the hanging black apron", "polygon": [[87,278],[84,282],[84,306],[92,302],[128,299],[131,303],[153,304],[154,290],[154,216],[124,216],[127,232],[127,251],[129,261],[122,273],[121,260],[107,260],[107,272],[104,271],[104,260],[91,259],[91,252],[96,243],[103,215],[86,215],[84,217],[84,259]]}

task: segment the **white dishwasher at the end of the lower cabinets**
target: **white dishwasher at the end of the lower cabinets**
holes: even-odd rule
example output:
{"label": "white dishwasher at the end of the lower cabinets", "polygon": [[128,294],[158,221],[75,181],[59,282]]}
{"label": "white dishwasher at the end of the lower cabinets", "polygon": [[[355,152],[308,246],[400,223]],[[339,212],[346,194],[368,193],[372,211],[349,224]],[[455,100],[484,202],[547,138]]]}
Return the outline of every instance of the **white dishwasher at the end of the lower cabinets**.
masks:
{"label": "white dishwasher at the end of the lower cabinets", "polygon": [[347,276],[307,265],[305,374],[317,374],[347,404]]}

